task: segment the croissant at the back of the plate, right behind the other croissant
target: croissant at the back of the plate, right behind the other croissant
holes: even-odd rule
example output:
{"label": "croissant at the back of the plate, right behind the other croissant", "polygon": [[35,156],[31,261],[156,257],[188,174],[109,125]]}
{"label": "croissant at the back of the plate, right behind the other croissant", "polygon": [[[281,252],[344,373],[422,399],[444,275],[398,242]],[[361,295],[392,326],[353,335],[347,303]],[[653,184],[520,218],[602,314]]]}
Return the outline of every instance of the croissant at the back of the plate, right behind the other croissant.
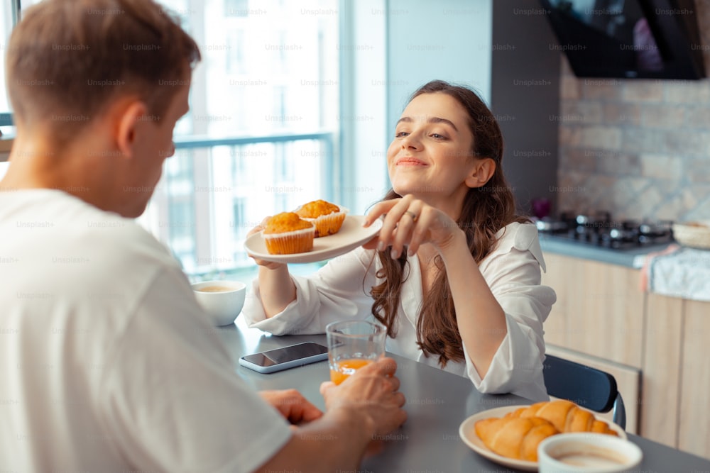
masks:
{"label": "croissant at the back of the plate, right behind the other croissant", "polygon": [[538,402],[532,406],[521,407],[506,414],[511,418],[541,417],[550,421],[560,432],[594,432],[617,435],[604,421],[599,421],[593,413],[580,408],[572,401]]}

